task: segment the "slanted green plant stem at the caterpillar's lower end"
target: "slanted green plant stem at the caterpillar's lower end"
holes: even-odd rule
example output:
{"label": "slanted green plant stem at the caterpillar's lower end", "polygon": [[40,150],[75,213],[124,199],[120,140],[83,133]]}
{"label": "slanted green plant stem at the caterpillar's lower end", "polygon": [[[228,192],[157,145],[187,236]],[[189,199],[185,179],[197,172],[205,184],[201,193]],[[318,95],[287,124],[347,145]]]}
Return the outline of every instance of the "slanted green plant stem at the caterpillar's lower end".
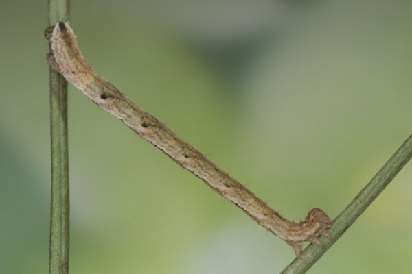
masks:
{"label": "slanted green plant stem at the caterpillar's lower end", "polygon": [[358,219],[366,208],[385,189],[402,167],[407,164],[412,157],[412,135],[400,146],[384,166],[376,173],[371,181],[356,195],[347,207],[334,219],[332,227],[328,233],[332,238],[321,237],[323,247],[310,244],[301,253],[302,260],[296,258],[291,262],[281,274],[305,273],[310,267],[321,258],[339,237]]}

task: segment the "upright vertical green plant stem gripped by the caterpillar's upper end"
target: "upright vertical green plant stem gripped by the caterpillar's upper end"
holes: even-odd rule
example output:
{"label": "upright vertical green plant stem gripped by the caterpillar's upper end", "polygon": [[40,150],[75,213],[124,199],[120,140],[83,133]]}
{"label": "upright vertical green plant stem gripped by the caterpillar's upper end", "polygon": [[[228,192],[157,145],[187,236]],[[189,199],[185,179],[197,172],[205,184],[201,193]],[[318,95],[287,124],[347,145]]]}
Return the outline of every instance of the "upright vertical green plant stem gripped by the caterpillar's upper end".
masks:
{"label": "upright vertical green plant stem gripped by the caterpillar's upper end", "polygon": [[[69,0],[49,0],[49,25],[69,20]],[[69,273],[69,157],[67,82],[50,68],[50,136],[52,198],[49,274]]]}

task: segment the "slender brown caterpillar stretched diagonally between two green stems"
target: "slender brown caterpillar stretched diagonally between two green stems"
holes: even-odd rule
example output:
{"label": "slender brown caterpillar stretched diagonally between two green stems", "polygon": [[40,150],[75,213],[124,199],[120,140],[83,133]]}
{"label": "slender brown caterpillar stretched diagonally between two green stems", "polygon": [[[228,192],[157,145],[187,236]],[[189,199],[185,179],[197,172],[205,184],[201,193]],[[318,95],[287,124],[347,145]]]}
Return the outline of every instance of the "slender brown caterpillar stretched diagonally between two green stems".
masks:
{"label": "slender brown caterpillar stretched diagonally between two green stems", "polygon": [[84,59],[76,35],[67,23],[60,22],[55,27],[47,28],[45,36],[53,51],[47,55],[49,64],[100,108],[122,120],[141,138],[148,140],[184,169],[203,179],[210,188],[242,209],[251,219],[285,240],[293,247],[296,256],[300,256],[304,242],[322,246],[318,236],[329,236],[326,229],[332,226],[332,221],[325,212],[314,208],[306,219],[299,223],[284,219],[251,190],[219,169],[155,116],[139,108],[115,86],[95,73]]}

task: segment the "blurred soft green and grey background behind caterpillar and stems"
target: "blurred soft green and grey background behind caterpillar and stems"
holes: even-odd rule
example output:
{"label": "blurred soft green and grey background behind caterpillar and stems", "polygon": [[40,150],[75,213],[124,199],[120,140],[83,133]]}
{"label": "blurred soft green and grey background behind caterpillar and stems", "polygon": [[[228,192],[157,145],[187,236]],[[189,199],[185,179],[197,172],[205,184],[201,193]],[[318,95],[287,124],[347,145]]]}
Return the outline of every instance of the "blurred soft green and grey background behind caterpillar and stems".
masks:
{"label": "blurred soft green and grey background behind caterpillar and stems", "polygon": [[[288,219],[412,133],[411,1],[71,1],[93,68]],[[0,273],[47,273],[47,1],[0,3]],[[293,249],[69,86],[71,273],[279,273]],[[309,273],[410,273],[412,164]]]}

